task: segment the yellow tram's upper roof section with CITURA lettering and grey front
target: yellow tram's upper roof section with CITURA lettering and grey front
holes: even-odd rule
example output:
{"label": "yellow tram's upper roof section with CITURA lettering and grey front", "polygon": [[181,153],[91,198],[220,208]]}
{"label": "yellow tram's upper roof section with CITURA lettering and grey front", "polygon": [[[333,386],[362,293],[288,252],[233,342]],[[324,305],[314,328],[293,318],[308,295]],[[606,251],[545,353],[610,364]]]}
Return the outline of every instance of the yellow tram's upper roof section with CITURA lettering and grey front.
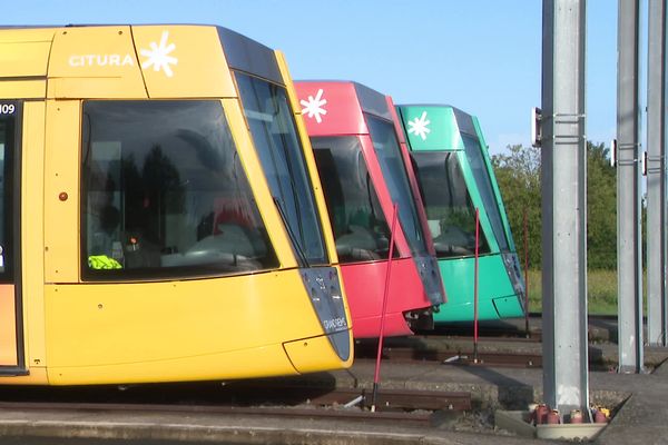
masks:
{"label": "yellow tram's upper roof section with CITURA lettering and grey front", "polygon": [[236,97],[230,69],[286,83],[273,49],[218,26],[0,27],[0,98]]}

